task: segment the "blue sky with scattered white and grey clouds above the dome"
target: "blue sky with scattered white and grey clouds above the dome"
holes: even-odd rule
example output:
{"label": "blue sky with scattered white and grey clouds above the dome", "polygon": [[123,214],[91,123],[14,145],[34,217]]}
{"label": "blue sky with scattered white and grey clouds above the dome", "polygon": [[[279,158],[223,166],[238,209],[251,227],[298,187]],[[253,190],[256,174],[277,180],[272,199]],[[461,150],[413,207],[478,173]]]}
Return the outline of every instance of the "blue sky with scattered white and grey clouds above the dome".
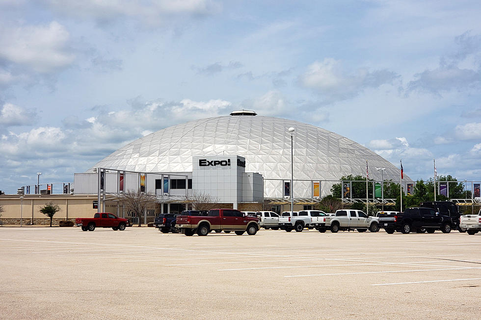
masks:
{"label": "blue sky with scattered white and grey clouds above the dome", "polygon": [[481,180],[481,2],[0,0],[0,190],[254,110]]}

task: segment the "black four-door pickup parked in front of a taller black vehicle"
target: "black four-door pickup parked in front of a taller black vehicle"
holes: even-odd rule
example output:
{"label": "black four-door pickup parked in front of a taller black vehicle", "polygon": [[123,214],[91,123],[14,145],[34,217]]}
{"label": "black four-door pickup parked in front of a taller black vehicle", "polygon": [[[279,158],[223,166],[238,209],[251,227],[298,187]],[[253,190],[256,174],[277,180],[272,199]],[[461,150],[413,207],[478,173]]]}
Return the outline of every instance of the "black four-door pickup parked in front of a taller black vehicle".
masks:
{"label": "black four-door pickup parked in front of a taller black vehicle", "polygon": [[451,217],[444,216],[431,208],[408,208],[395,217],[394,221],[383,223],[382,227],[387,233],[395,230],[402,233],[409,233],[411,230],[425,228],[428,233],[441,230],[443,233],[450,233],[456,227]]}

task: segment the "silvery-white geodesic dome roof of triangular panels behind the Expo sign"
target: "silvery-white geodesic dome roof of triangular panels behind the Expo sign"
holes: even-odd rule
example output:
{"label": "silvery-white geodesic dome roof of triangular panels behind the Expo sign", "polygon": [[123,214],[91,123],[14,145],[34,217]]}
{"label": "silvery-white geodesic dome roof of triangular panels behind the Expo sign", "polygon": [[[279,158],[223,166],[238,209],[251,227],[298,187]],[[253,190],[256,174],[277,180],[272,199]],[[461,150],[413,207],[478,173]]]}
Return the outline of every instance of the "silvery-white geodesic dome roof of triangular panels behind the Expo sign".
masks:
{"label": "silvery-white geodesic dome roof of triangular panels behind the Expo sign", "polygon": [[[240,155],[246,160],[245,172],[263,175],[265,197],[282,197],[282,179],[291,179],[288,129],[294,127],[294,190],[300,190],[296,184],[305,184],[306,190],[311,184],[295,180],[339,180],[348,174],[365,176],[366,160],[371,179],[381,180],[375,168],[382,167],[386,168],[384,180],[399,181],[398,168],[346,137],[307,123],[252,114],[233,113],[159,130],[116,150],[88,172],[99,167],[135,172],[191,172],[193,155]],[[404,181],[411,179],[405,176]],[[326,194],[326,189],[322,194]],[[307,192],[297,197],[307,197]]]}

